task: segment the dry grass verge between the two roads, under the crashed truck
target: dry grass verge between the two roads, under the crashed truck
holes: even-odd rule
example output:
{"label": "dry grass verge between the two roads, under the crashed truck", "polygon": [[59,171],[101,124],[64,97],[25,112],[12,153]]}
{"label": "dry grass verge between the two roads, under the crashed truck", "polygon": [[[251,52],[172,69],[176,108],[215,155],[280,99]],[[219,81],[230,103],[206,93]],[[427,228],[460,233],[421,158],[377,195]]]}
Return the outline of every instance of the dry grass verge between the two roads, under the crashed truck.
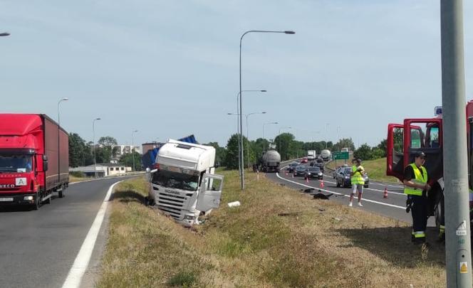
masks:
{"label": "dry grass verge between the two roads, under the crashed truck", "polygon": [[[313,200],[253,173],[241,192],[237,172],[220,173],[221,206],[192,229],[142,205],[142,178],[120,183],[96,286],[445,286],[443,246],[411,245],[407,223]],[[228,208],[231,201],[241,206]]]}

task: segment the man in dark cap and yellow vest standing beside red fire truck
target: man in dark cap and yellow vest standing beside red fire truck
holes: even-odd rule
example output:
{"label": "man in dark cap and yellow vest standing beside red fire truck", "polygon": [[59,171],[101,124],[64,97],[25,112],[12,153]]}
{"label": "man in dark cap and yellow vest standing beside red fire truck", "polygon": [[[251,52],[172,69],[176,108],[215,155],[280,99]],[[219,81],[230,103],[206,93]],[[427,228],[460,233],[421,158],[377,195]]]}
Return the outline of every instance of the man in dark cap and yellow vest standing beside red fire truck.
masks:
{"label": "man in dark cap and yellow vest standing beside red fire truck", "polygon": [[418,151],[415,154],[414,163],[407,165],[404,169],[404,193],[412,201],[412,235],[411,240],[415,243],[425,242],[425,229],[427,228],[427,191],[430,185],[427,183],[427,169],[425,169],[425,154]]}

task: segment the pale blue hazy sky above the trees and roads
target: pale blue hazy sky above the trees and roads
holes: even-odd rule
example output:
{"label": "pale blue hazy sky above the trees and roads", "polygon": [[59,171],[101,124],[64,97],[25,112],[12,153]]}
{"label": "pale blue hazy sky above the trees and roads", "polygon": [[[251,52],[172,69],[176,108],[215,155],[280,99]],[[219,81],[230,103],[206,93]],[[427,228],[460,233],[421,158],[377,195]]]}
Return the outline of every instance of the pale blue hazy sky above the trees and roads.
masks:
{"label": "pale blue hazy sky above the trees and roads", "polygon": [[[473,15],[464,1],[464,15]],[[467,100],[473,20],[464,17]],[[378,144],[442,104],[440,1],[0,0],[0,112],[38,112],[85,140],[221,146],[237,130],[239,39],[249,138]],[[246,119],[246,117],[244,117]],[[279,122],[279,124],[267,124]],[[284,129],[291,127],[291,129]],[[283,129],[281,129],[283,128]],[[338,132],[338,133],[337,133]],[[246,126],[244,126],[246,133]]]}

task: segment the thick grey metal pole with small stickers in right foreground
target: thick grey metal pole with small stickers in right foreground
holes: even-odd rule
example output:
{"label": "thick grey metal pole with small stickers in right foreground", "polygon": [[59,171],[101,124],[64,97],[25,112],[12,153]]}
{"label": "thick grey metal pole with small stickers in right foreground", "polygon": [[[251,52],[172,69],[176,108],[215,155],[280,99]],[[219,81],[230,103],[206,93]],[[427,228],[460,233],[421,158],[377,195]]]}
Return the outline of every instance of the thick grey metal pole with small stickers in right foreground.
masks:
{"label": "thick grey metal pole with small stickers in right foreground", "polygon": [[447,287],[472,287],[463,1],[440,1]]}

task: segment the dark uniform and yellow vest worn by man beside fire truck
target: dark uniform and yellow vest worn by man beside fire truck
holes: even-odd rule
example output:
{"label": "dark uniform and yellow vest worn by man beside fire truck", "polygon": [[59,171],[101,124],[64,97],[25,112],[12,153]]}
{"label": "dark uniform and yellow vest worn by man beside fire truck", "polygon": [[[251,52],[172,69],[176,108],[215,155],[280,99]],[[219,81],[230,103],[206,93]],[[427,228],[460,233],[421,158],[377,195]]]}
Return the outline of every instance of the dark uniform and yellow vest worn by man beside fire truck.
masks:
{"label": "dark uniform and yellow vest worn by man beside fire truck", "polygon": [[[414,163],[405,169],[405,174],[412,169],[415,177],[410,180],[414,183],[425,186],[427,183],[427,169],[424,166],[417,167]],[[412,242],[425,242],[425,229],[427,228],[427,195],[419,188],[404,186],[404,193],[412,201]]]}

